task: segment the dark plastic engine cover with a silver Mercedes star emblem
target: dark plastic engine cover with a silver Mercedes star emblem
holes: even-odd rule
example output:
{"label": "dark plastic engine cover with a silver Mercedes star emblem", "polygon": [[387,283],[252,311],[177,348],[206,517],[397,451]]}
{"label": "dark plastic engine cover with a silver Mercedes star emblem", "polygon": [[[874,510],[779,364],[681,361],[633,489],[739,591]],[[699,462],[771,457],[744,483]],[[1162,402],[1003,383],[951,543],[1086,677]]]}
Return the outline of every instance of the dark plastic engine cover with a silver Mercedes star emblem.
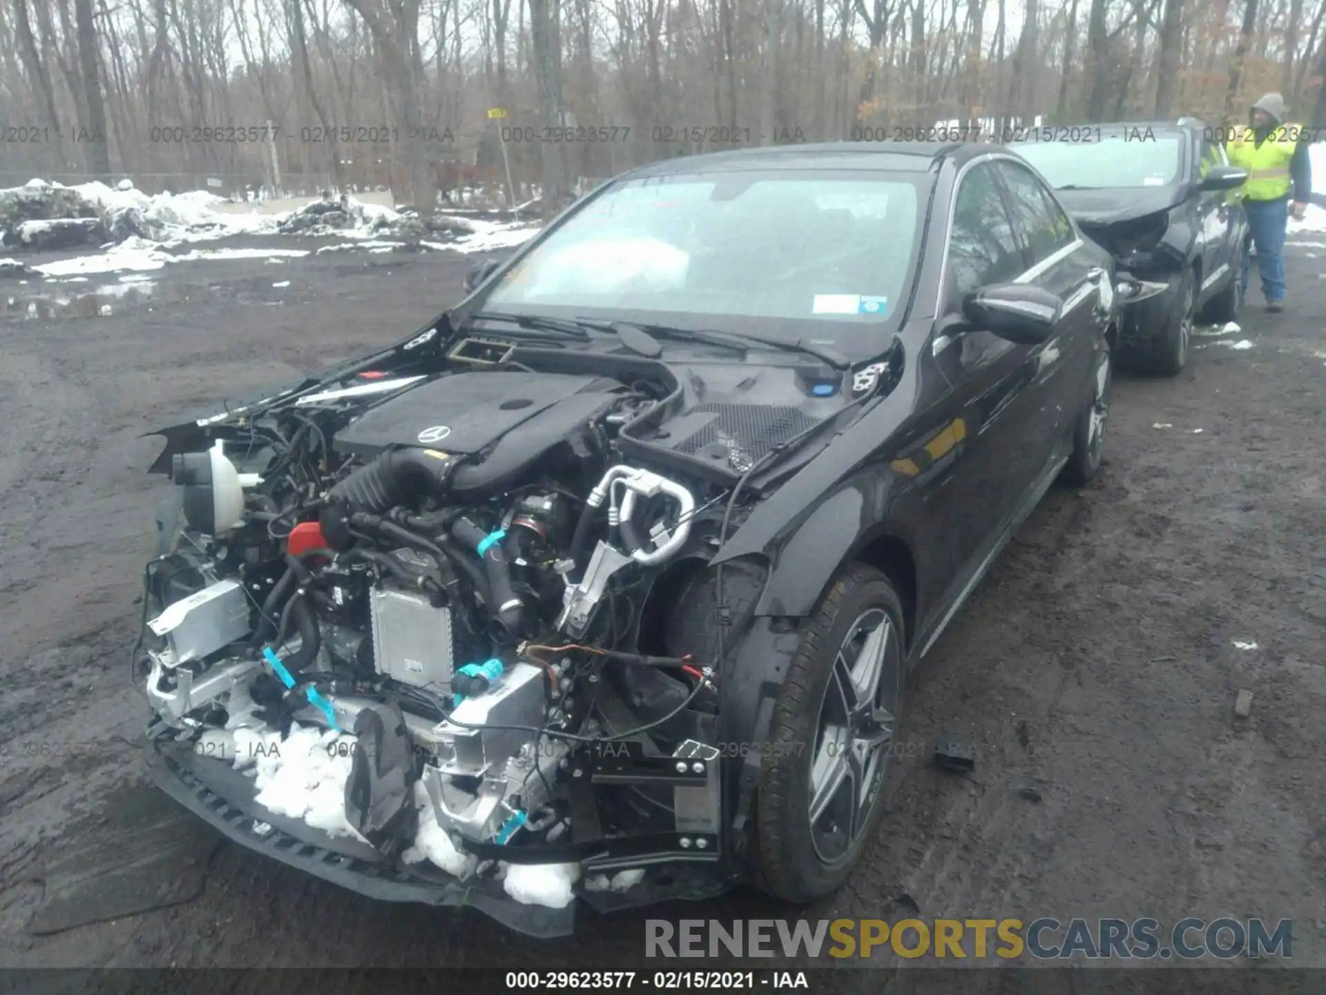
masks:
{"label": "dark plastic engine cover with a silver Mercedes star emblem", "polygon": [[370,409],[337,432],[333,444],[359,456],[396,446],[473,455],[558,402],[617,386],[602,377],[562,373],[457,373]]}

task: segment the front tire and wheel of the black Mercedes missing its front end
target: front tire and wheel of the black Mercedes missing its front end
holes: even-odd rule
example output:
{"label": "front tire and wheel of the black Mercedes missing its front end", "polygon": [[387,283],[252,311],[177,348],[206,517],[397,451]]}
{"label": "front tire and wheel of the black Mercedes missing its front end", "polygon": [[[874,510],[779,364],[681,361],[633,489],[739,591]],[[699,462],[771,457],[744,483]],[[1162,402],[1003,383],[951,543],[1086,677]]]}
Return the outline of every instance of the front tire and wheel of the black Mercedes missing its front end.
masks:
{"label": "front tire and wheel of the black Mercedes missing its front end", "polygon": [[778,691],[756,792],[752,870],[808,903],[849,878],[883,817],[906,679],[902,604],[851,564],[829,588]]}

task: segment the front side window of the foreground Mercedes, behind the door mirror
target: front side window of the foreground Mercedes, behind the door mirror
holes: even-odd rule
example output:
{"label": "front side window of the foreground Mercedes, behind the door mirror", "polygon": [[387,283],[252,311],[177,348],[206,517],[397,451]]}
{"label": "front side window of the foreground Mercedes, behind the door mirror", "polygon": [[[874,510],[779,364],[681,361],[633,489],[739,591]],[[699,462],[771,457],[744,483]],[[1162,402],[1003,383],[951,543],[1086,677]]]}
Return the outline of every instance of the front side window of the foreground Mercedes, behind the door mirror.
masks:
{"label": "front side window of the foreground Mercedes, behind the door mirror", "polygon": [[1012,280],[1025,269],[994,171],[989,163],[976,166],[957,188],[948,241],[947,304],[956,310],[973,291]]}

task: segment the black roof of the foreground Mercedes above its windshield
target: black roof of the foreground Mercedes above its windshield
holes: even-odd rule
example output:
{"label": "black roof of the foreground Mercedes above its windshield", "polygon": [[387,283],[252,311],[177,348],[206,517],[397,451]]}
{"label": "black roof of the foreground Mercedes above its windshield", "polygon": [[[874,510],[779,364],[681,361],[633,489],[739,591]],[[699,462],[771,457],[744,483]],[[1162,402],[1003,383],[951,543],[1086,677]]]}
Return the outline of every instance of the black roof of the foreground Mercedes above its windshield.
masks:
{"label": "black roof of the foreground Mercedes above its windshield", "polygon": [[762,149],[686,155],[640,166],[629,176],[668,176],[696,171],[773,168],[869,170],[871,172],[926,172],[951,158],[959,163],[997,150],[977,142],[821,142],[774,145]]}

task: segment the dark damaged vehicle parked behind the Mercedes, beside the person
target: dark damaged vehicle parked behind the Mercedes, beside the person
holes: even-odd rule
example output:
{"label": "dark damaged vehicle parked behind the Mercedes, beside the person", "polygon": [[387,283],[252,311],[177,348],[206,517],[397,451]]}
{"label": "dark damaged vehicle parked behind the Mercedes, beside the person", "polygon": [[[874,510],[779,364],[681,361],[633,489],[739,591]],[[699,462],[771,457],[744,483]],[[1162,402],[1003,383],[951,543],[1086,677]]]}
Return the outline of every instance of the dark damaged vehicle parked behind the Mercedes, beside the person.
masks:
{"label": "dark damaged vehicle parked behind the Mercedes, beside the person", "polygon": [[1114,255],[1120,360],[1167,377],[1187,365],[1193,324],[1233,321],[1242,305],[1248,223],[1231,191],[1248,172],[1212,141],[1219,131],[1183,118],[1091,126],[1082,133],[1094,141],[1071,143],[1033,130],[1010,146]]}

